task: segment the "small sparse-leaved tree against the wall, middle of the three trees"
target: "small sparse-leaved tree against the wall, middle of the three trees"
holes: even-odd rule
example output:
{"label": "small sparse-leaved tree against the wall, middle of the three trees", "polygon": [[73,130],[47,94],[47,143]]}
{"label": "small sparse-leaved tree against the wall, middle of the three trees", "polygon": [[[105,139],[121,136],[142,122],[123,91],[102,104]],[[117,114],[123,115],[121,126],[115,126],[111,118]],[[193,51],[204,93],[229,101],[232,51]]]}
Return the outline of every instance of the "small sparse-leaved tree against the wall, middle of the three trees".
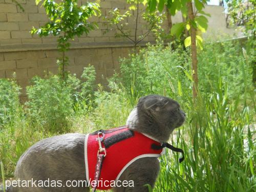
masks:
{"label": "small sparse-leaved tree against the wall, middle of the three trees", "polygon": [[[125,37],[132,42],[134,50],[145,37],[147,37],[151,32],[155,35],[162,33],[161,24],[165,18],[164,14],[159,13],[158,11],[147,12],[145,7],[141,4],[140,0],[127,0],[127,4],[130,5],[129,10],[125,11],[123,14],[118,8],[111,10],[109,12],[110,16],[106,16],[108,25],[111,27],[111,30],[115,30],[116,37]],[[141,7],[143,6],[143,7]],[[135,30],[134,33],[131,30],[127,30],[125,27],[129,25],[126,18],[132,18],[134,16],[135,20]],[[140,19],[143,19],[146,23],[144,26],[139,26]],[[144,30],[145,32],[139,35],[139,30]],[[106,31],[108,32],[108,31]]]}

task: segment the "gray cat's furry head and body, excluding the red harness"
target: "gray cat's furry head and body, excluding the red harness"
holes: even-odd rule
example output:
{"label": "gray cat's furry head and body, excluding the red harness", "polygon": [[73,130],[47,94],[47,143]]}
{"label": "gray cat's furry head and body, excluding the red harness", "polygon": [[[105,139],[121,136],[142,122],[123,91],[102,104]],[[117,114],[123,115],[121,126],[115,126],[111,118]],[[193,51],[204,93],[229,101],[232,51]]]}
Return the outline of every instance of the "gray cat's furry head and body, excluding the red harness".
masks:
{"label": "gray cat's furry head and body, excluding the red harness", "polygon": [[[139,99],[126,124],[130,129],[166,142],[173,130],[183,124],[185,113],[173,99],[160,95],[148,95]],[[31,146],[18,160],[16,180],[62,181],[86,180],[84,165],[84,134],[65,134],[41,140]],[[113,188],[114,191],[148,191],[145,184],[154,187],[159,172],[159,161],[155,157],[136,160],[125,169],[119,180],[133,180],[134,187]],[[45,183],[53,187],[13,187],[7,192],[36,191],[90,191],[88,187],[56,187],[56,183]],[[40,185],[39,185],[40,186]]]}

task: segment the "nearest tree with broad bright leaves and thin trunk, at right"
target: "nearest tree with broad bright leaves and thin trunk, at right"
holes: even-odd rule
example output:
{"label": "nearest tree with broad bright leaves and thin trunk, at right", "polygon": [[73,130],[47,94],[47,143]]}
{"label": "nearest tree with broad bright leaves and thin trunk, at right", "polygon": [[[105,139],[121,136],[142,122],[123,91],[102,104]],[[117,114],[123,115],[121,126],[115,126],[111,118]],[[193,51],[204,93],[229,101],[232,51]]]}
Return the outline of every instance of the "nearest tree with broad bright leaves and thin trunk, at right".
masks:
{"label": "nearest tree with broad bright leaves and thin trunk, at right", "polygon": [[185,47],[191,46],[191,69],[193,77],[193,99],[196,100],[198,93],[198,73],[197,73],[197,46],[202,49],[202,37],[198,32],[207,30],[208,20],[205,16],[210,16],[202,9],[206,4],[206,0],[195,0],[195,11],[191,0],[144,0],[149,11],[154,12],[158,9],[163,11],[164,6],[167,7],[171,15],[175,15],[177,11],[181,11],[185,21],[172,26],[171,34],[180,38],[182,32],[186,28],[189,36],[185,38]]}

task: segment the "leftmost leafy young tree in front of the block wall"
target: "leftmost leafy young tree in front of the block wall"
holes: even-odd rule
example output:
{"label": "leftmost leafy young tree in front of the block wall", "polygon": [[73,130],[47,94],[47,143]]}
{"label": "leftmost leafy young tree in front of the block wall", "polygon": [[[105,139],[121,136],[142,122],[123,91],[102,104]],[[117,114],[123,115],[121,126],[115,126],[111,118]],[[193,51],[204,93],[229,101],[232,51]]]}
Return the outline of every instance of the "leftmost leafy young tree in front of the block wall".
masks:
{"label": "leftmost leafy young tree in front of the block wall", "polygon": [[[36,0],[38,5],[41,0]],[[69,58],[66,52],[70,49],[70,40],[75,36],[88,34],[97,27],[96,23],[88,22],[92,16],[100,15],[98,3],[87,2],[86,5],[78,6],[77,0],[66,0],[56,3],[54,0],[44,0],[42,6],[46,9],[49,22],[45,26],[36,29],[33,27],[32,34],[37,33],[42,36],[57,36],[57,48],[61,52],[61,57],[57,59],[59,75],[66,79],[65,67],[69,65]]]}

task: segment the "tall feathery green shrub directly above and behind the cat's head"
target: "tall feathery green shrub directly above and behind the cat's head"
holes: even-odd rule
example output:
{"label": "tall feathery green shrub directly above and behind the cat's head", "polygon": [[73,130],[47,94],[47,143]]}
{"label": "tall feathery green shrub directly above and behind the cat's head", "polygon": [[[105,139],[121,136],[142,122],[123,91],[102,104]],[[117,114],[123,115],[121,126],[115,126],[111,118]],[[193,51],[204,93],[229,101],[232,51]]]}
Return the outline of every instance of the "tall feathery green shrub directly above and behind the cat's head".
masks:
{"label": "tall feathery green shrub directly above and behind the cat's head", "polygon": [[191,85],[184,73],[189,70],[189,56],[182,46],[175,50],[172,47],[149,46],[139,54],[120,59],[120,74],[111,81],[119,82],[131,99],[148,93],[189,96]]}

